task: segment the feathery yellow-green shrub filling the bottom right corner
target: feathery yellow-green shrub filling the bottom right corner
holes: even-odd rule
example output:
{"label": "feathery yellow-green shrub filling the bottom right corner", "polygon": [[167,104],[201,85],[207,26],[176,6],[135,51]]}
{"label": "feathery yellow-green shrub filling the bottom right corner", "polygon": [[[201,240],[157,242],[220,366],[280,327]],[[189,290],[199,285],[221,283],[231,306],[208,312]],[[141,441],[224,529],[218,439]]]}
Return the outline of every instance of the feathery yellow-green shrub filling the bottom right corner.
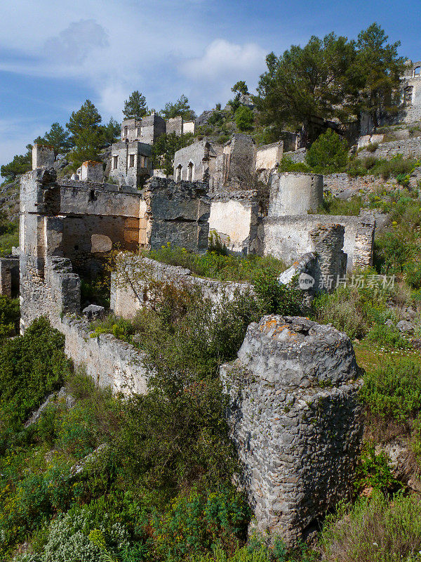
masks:
{"label": "feathery yellow-green shrub filling the bottom right corner", "polygon": [[417,562],[421,550],[421,502],[417,496],[380,492],[340,507],[321,537],[327,562]]}

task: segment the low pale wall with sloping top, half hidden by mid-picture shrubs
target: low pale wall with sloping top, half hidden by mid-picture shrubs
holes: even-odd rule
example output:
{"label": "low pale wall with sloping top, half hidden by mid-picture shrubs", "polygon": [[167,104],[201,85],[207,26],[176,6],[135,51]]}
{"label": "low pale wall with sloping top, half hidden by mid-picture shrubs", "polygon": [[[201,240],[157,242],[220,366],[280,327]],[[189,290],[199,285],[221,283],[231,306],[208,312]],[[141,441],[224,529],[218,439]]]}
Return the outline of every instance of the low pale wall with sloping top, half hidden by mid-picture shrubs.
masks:
{"label": "low pale wall with sloping top, half hidden by mid-picture shrubs", "polygon": [[219,303],[225,297],[232,299],[236,291],[252,290],[247,282],[222,282],[196,277],[186,268],[168,266],[136,254],[121,253],[112,273],[110,308],[117,316],[133,318],[142,306],[148,306],[153,298],[149,287],[156,282],[172,283],[177,287],[197,287],[213,303]]}

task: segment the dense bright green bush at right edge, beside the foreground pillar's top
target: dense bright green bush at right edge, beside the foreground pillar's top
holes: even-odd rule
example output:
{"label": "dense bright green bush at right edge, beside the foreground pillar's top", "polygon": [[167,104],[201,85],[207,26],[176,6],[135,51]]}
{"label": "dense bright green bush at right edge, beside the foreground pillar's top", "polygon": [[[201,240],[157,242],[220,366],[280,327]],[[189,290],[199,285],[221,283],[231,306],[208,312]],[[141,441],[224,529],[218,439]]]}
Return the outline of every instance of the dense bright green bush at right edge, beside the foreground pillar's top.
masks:
{"label": "dense bright green bush at right edge, beside the foreground pillar's top", "polygon": [[421,409],[421,365],[402,358],[366,372],[361,398],[375,417],[399,422],[414,417]]}

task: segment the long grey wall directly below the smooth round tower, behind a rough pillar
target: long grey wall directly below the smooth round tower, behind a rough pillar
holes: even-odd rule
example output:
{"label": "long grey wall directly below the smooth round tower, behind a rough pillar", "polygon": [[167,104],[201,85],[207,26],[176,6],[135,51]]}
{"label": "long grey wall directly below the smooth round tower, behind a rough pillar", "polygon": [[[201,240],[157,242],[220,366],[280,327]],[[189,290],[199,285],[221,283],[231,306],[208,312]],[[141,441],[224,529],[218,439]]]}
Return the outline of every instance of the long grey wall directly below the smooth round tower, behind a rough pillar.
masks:
{"label": "long grey wall directly below the smooth round tower, behind a rough pillar", "polygon": [[340,224],[345,227],[343,251],[347,270],[373,263],[375,220],[371,214],[360,216],[300,215],[267,217],[258,226],[260,252],[291,263],[302,254],[314,251],[311,233],[314,228]]}

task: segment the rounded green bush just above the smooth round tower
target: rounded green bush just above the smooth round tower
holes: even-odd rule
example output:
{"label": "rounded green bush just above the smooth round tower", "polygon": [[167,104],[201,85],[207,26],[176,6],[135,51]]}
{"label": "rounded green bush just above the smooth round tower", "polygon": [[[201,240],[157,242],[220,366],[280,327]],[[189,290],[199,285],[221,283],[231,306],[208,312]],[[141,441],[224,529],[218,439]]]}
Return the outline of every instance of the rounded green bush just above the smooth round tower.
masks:
{"label": "rounded green bush just above the smooth round tower", "polygon": [[348,145],[332,129],[314,141],[305,157],[316,174],[333,174],[344,171],[348,161]]}

